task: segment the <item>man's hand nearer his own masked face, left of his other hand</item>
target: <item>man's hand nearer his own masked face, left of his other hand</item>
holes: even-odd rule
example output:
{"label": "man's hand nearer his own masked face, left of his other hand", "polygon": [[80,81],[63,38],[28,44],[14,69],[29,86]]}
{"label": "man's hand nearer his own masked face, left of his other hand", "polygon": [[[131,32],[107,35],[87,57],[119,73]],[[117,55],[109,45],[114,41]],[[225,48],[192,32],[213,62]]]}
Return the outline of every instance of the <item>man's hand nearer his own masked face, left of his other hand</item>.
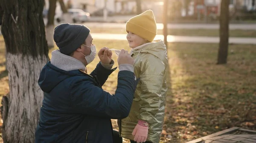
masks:
{"label": "man's hand nearer his own masked face, left of his other hand", "polygon": [[99,50],[98,53],[100,62],[103,64],[110,64],[111,59],[112,59],[112,52],[111,50],[108,50],[107,47],[103,47],[102,49]]}

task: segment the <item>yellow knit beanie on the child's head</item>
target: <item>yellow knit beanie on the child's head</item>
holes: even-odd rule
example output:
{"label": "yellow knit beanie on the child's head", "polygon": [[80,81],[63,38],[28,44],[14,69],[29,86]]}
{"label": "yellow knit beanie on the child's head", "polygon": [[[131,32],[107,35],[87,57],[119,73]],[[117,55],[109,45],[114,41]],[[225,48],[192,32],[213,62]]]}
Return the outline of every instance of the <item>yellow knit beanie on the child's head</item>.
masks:
{"label": "yellow knit beanie on the child's head", "polygon": [[153,11],[147,10],[142,14],[132,17],[126,22],[125,30],[153,42],[154,37],[157,35],[157,23]]}

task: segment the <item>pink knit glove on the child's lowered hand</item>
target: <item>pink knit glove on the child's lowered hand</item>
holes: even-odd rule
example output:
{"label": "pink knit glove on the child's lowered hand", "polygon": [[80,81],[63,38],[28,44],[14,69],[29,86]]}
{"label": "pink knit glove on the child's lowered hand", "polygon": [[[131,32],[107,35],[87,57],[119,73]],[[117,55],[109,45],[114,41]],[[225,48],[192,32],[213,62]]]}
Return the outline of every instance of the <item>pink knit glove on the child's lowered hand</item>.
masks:
{"label": "pink knit glove on the child's lowered hand", "polygon": [[132,135],[134,135],[134,141],[137,143],[145,142],[148,137],[148,123],[139,120],[132,132]]}

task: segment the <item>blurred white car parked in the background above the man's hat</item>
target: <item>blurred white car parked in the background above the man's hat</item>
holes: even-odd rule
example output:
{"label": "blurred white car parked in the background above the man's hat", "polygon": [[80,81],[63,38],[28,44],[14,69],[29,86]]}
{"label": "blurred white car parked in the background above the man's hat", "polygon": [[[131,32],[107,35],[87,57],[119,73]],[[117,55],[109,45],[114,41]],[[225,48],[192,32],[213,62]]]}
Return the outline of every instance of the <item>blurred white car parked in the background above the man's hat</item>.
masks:
{"label": "blurred white car parked in the background above the man's hat", "polygon": [[[90,19],[90,13],[84,12],[83,10],[79,8],[69,8],[67,9],[68,13],[70,13],[71,18],[74,23],[76,22],[86,22]],[[61,22],[64,20],[62,17],[62,14],[55,14],[55,20],[57,22]]]}

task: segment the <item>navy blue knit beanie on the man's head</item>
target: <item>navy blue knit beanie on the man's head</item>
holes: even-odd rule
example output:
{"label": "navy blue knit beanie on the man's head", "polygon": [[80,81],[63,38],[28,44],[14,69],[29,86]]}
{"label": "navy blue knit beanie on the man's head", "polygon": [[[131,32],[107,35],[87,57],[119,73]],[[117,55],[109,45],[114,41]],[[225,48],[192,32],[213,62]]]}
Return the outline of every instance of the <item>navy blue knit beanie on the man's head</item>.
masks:
{"label": "navy blue knit beanie on the man's head", "polygon": [[61,53],[69,55],[84,43],[89,33],[84,25],[63,23],[54,28],[53,39]]}

